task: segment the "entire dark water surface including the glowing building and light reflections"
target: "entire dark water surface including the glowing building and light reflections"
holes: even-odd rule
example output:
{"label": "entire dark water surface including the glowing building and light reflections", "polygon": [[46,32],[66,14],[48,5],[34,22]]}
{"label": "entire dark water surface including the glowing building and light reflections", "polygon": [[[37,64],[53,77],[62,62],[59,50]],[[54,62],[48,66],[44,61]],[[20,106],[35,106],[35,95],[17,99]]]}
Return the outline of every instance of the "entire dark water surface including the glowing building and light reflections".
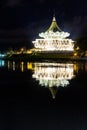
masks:
{"label": "entire dark water surface including the glowing building and light reflections", "polygon": [[86,130],[86,62],[0,60],[0,130]]}

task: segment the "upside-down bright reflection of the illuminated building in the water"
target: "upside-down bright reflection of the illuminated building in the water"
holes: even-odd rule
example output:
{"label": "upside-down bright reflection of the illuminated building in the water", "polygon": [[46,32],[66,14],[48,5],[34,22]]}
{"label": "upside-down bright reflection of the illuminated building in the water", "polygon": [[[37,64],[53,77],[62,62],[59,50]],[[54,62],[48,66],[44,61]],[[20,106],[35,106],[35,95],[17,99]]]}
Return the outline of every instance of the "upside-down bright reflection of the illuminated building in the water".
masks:
{"label": "upside-down bright reflection of the illuminated building in the water", "polygon": [[34,63],[33,78],[41,86],[48,87],[52,97],[55,98],[58,87],[66,87],[69,80],[75,76],[72,63]]}

